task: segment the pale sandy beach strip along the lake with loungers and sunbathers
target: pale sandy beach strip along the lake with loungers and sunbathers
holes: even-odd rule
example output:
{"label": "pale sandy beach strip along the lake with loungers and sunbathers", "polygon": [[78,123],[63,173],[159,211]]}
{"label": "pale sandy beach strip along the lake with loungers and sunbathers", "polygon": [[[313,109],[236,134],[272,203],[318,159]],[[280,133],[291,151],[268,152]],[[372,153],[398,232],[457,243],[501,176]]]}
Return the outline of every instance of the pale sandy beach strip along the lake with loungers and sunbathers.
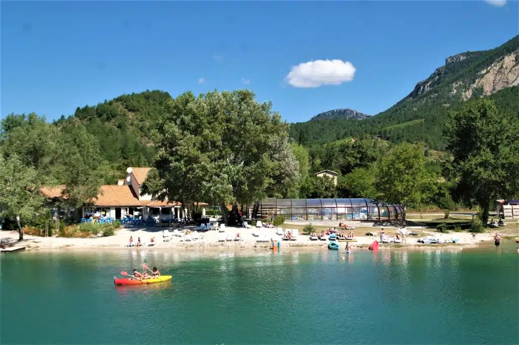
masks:
{"label": "pale sandy beach strip along the lake with loungers and sunbathers", "polygon": [[[289,225],[290,226],[290,225]],[[290,228],[286,226],[286,228]],[[285,228],[285,227],[284,227]],[[283,229],[284,229],[283,228]],[[182,230],[191,230],[192,234],[196,234],[199,237],[195,240],[186,241],[184,236],[171,236],[169,241],[164,241],[162,237],[162,230],[168,229],[168,231],[173,232],[174,229],[177,231]],[[28,249],[38,249],[38,248],[77,248],[77,249],[88,249],[88,248],[127,248],[130,236],[133,237],[134,243],[140,237],[141,241],[144,242],[143,247],[145,248],[157,248],[157,249],[172,249],[172,248],[239,248],[239,249],[247,249],[247,248],[269,248],[270,247],[270,239],[275,241],[281,241],[281,248],[283,247],[307,247],[307,248],[326,248],[328,241],[324,240],[310,240],[308,235],[301,234],[301,230],[299,231],[299,235],[296,240],[286,241],[282,240],[281,235],[276,234],[276,229],[272,228],[264,228],[263,231],[266,233],[266,238],[268,242],[258,242],[258,240],[262,239],[262,237],[253,236],[253,233],[260,233],[261,229],[245,229],[239,227],[227,227],[225,233],[218,231],[206,231],[206,232],[194,232],[194,226],[181,226],[176,228],[159,228],[159,227],[121,227],[118,229],[114,236],[110,237],[100,237],[100,238],[64,238],[64,237],[37,237],[24,235],[23,245],[28,246]],[[366,228],[358,228],[355,233],[362,236],[355,236],[357,241],[350,242],[350,245],[353,247],[362,247],[365,248],[370,245],[374,240],[379,240],[379,236],[365,236]],[[425,236],[434,236],[435,238],[439,238],[441,240],[449,240],[452,238],[458,239],[458,243],[452,246],[476,246],[481,241],[490,241],[493,240],[494,232],[477,234],[476,238],[473,239],[470,233],[460,232],[460,233],[450,233],[450,234],[440,234],[436,232],[430,231],[430,229],[424,228],[412,228],[407,227],[409,231],[416,231],[419,233],[419,236],[407,236],[406,243],[402,244],[384,244],[381,248],[400,248],[400,247],[439,247],[439,246],[449,246],[449,245],[424,245],[422,243],[417,242],[418,238]],[[503,234],[506,233],[505,229],[499,229]],[[379,228],[370,228],[369,231],[379,232]],[[386,234],[393,235],[397,231],[397,228],[388,228],[386,227]],[[242,240],[234,240],[236,234],[239,233]],[[10,237],[13,239],[18,238],[17,232],[11,231],[2,231],[0,233],[1,237]],[[179,234],[180,235],[180,234]],[[155,246],[148,246],[151,242],[151,238],[155,237]],[[225,241],[222,241],[223,238],[226,238]],[[346,242],[339,242],[341,247],[346,246]]]}

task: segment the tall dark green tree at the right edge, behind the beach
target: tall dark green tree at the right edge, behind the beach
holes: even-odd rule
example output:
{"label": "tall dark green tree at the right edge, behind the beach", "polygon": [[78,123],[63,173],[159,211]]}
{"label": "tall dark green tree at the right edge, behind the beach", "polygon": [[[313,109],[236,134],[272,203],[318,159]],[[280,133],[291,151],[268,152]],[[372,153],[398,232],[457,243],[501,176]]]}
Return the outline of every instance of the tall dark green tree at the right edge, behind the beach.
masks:
{"label": "tall dark green tree at the right edge, behind the beach", "polygon": [[495,199],[519,193],[519,118],[500,114],[493,100],[477,99],[450,113],[445,135],[455,196],[480,205],[486,224]]}

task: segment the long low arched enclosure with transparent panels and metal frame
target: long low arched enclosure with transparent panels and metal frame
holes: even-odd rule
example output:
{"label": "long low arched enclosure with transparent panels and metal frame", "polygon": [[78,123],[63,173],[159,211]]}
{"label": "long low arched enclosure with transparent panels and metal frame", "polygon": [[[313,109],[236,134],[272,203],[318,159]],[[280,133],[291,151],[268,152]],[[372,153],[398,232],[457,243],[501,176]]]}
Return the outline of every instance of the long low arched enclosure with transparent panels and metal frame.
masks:
{"label": "long low arched enclosure with transparent panels and metal frame", "polygon": [[260,203],[258,214],[271,218],[278,214],[285,221],[390,221],[401,219],[398,205],[373,199],[276,199]]}

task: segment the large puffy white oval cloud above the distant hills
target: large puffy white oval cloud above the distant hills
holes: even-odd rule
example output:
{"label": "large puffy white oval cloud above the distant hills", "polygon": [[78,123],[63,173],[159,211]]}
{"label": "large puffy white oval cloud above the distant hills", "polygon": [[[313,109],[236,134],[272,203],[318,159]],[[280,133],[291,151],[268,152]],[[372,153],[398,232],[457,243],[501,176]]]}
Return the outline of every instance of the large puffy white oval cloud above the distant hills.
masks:
{"label": "large puffy white oval cloud above the distant hills", "polygon": [[315,60],[292,67],[285,80],[295,88],[340,85],[353,80],[356,70],[349,61]]}

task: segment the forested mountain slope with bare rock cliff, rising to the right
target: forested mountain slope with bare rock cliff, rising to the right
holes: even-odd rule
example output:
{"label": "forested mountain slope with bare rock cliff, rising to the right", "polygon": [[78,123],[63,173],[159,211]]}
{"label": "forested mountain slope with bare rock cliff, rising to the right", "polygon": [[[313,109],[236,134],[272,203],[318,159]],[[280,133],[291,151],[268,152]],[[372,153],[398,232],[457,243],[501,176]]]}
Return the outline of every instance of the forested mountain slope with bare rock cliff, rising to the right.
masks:
{"label": "forested mountain slope with bare rock cliff, rising to the right", "polygon": [[332,119],[291,125],[290,135],[303,136],[308,145],[321,145],[361,134],[378,135],[394,142],[425,141],[443,149],[448,111],[475,97],[495,99],[501,111],[519,109],[519,35],[498,48],[449,56],[445,65],[400,102],[365,120]]}

